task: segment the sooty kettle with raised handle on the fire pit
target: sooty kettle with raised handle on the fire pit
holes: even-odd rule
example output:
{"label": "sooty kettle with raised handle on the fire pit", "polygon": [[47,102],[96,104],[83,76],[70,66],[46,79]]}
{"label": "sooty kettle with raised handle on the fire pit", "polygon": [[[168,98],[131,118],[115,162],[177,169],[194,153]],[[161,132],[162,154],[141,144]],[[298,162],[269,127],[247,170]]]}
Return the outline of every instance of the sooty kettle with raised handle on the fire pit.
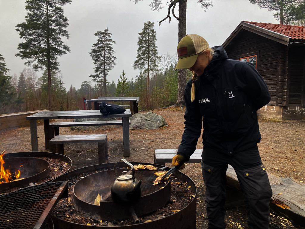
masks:
{"label": "sooty kettle with raised handle on the fire pit", "polygon": [[111,196],[116,202],[132,202],[141,197],[142,180],[135,179],[135,168],[124,158],[122,159],[132,169],[132,175],[127,174],[127,171],[122,172],[122,175],[117,176],[117,163],[114,164],[114,173],[116,180],[111,187]]}

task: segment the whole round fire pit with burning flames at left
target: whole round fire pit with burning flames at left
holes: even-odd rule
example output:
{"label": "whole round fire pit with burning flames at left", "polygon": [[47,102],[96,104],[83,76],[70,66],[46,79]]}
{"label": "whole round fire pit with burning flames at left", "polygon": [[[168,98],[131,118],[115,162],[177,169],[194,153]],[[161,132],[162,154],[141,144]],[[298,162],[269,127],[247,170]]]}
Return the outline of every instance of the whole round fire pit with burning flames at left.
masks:
{"label": "whole round fire pit with burning flames at left", "polygon": [[2,159],[5,162],[3,164],[5,170],[9,169],[12,176],[20,170],[19,179],[23,179],[17,180],[16,177],[13,177],[12,182],[0,183],[0,194],[27,187],[29,183],[49,182],[69,171],[72,166],[72,161],[67,156],[50,152],[5,153],[2,154]]}

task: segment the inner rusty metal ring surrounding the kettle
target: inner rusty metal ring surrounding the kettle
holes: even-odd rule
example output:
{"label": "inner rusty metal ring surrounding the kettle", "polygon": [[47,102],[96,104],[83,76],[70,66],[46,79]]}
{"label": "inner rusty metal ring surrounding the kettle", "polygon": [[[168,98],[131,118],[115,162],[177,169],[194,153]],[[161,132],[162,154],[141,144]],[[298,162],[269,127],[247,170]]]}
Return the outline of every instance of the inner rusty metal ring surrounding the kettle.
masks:
{"label": "inner rusty metal ring surrounding the kettle", "polygon": [[[117,169],[118,174],[129,169]],[[162,171],[158,168],[157,171]],[[162,208],[170,200],[170,179],[157,186],[152,182],[156,179],[156,170],[136,170],[135,177],[142,180],[141,197],[127,204],[116,203],[111,198],[111,185],[115,181],[114,170],[106,170],[90,174],[79,180],[73,189],[74,206],[77,211],[100,217],[103,220],[123,220],[131,218],[130,206],[137,216],[152,213]],[[162,188],[161,188],[162,187]],[[97,194],[102,199],[100,205],[94,205]],[[120,209],[120,211],[117,211]]]}

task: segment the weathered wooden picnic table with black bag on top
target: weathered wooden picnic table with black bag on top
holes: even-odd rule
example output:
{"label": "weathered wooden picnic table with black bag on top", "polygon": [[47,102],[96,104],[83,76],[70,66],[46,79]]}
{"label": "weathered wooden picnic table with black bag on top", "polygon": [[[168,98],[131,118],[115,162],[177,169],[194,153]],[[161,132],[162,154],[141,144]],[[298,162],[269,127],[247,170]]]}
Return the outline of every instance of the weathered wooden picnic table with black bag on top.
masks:
{"label": "weathered wooden picnic table with black bag on top", "polygon": [[127,109],[122,114],[117,115],[102,115],[99,110],[80,110],[80,111],[41,111],[34,115],[27,116],[30,120],[30,134],[32,151],[38,151],[37,139],[37,122],[38,119],[43,119],[45,131],[45,148],[49,148],[49,140],[54,137],[54,129],[50,127],[50,119],[70,119],[70,118],[122,118],[123,122],[123,148],[124,156],[128,157],[129,153],[129,117],[131,112]]}

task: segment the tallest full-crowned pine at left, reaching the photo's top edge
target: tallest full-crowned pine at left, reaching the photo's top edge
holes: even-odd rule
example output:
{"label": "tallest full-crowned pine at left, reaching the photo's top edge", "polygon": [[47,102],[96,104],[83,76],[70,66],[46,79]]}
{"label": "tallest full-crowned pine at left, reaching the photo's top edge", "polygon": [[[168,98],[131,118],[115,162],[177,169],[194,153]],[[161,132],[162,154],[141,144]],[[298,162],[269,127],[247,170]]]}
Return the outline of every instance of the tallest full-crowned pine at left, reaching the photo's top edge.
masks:
{"label": "tallest full-crowned pine at left, reaching the photo's top edge", "polygon": [[25,22],[16,25],[20,38],[25,40],[18,45],[19,53],[16,56],[29,59],[25,64],[33,64],[35,70],[47,69],[48,109],[51,108],[51,70],[58,70],[57,56],[70,52],[61,39],[69,39],[66,30],[69,23],[63,15],[62,6],[70,2],[71,0],[27,0]]}

